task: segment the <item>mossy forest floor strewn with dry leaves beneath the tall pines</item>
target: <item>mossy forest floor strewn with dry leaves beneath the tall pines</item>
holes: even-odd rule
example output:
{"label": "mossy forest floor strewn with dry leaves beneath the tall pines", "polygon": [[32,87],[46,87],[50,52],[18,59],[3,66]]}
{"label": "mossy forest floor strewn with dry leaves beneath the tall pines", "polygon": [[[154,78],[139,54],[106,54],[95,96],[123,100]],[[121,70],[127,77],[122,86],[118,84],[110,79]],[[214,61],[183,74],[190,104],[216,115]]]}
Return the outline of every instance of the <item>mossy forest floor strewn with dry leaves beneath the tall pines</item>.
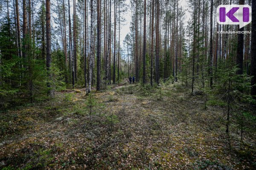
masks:
{"label": "mossy forest floor strewn with dry leaves beneath the tall pines", "polygon": [[205,109],[180,82],[92,94],[91,115],[85,89],[0,113],[0,169],[256,168],[255,139],[240,147],[238,132],[225,133],[223,108]]}

